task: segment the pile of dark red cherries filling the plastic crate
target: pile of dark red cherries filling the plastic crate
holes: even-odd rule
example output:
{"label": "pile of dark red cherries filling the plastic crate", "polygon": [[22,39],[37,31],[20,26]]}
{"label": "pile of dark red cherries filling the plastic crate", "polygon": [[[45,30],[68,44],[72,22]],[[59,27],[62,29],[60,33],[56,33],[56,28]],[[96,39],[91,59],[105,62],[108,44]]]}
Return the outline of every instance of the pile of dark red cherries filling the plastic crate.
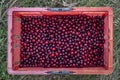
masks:
{"label": "pile of dark red cherries filling the plastic crate", "polygon": [[104,16],[21,17],[20,67],[104,66]]}

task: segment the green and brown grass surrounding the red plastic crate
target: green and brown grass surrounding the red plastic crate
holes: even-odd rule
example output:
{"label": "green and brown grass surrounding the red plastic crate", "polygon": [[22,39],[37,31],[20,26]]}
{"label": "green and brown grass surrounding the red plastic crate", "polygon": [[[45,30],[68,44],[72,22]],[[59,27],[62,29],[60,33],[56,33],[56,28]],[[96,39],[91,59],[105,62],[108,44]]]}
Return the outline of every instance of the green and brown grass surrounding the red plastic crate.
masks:
{"label": "green and brown grass surrounding the red plastic crate", "polygon": [[[66,3],[69,3],[66,4]],[[74,3],[77,5],[74,5]],[[7,73],[7,10],[10,7],[99,7],[114,10],[114,72],[111,75],[9,75]],[[0,80],[120,80],[120,0],[0,0]]]}

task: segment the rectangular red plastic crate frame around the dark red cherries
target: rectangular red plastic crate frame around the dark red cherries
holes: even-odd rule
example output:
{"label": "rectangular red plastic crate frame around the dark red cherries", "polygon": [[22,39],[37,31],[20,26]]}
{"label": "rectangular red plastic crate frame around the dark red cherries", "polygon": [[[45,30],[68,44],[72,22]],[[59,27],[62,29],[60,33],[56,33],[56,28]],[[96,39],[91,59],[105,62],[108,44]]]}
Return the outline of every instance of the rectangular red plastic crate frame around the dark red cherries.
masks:
{"label": "rectangular red plastic crate frame around the dark red cherries", "polygon": [[[113,72],[113,11],[110,7],[80,8],[10,8],[8,11],[8,73],[9,74],[111,74]],[[104,19],[104,67],[85,68],[20,68],[20,32],[23,15],[106,15]]]}

